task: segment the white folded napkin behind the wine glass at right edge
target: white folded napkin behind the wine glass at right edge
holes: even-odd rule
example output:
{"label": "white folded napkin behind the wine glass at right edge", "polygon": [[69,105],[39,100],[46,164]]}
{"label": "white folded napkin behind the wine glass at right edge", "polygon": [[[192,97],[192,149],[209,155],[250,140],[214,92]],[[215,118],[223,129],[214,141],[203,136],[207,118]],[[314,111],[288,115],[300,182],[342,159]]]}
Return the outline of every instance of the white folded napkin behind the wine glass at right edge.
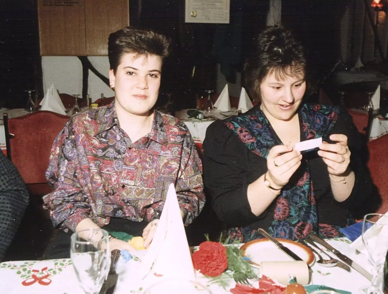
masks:
{"label": "white folded napkin behind the wine glass at right edge", "polygon": [[[388,216],[388,212],[385,213],[386,216]],[[377,225],[377,224],[386,224],[384,226]],[[366,232],[365,232],[365,237],[368,239],[372,240],[372,242],[376,242],[378,244],[379,239],[381,240],[383,237],[388,237],[388,218],[382,217],[380,218],[376,224],[372,225]],[[381,242],[381,241],[380,241]],[[354,240],[352,244],[350,244],[350,247],[353,249],[361,252],[362,254],[367,255],[367,251],[364,245],[364,242],[362,242],[362,235],[358,237],[357,239]],[[376,246],[376,248],[379,246]],[[386,247],[383,246],[381,242],[381,249],[385,249],[386,252]]]}

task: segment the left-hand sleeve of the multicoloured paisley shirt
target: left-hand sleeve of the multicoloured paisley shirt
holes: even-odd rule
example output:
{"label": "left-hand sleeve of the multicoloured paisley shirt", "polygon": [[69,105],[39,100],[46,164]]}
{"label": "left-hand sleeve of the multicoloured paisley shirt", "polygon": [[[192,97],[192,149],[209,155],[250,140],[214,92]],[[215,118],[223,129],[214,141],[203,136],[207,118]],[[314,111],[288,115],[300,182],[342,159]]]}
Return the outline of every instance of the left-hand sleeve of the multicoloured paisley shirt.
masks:
{"label": "left-hand sleeve of the multicoloured paisley shirt", "polygon": [[[80,147],[76,145],[70,122],[55,138],[46,178],[54,191],[43,197],[54,227],[75,231],[78,223],[90,217],[91,204],[85,193],[86,181],[80,164]],[[82,153],[82,152],[81,152]]]}

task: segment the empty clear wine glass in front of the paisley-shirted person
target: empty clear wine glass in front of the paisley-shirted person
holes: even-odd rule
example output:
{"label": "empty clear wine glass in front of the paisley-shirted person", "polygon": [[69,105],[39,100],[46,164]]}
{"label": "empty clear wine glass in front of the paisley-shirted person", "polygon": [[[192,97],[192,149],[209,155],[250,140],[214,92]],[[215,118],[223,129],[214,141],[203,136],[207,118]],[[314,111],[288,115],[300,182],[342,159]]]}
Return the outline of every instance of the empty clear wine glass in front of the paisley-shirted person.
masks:
{"label": "empty clear wine glass in front of the paisley-shirted person", "polygon": [[98,294],[111,263],[108,232],[81,230],[71,235],[70,257],[78,282],[87,294]]}

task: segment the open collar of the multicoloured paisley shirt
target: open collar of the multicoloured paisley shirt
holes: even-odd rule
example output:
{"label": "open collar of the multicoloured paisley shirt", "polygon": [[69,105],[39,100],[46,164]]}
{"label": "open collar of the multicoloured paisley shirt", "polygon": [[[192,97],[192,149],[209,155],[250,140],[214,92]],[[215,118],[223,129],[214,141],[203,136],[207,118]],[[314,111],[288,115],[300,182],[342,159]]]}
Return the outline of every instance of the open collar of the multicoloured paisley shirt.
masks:
{"label": "open collar of the multicoloured paisley shirt", "polygon": [[[107,131],[112,128],[114,125],[118,125],[118,118],[116,114],[116,108],[114,106],[114,101],[106,106],[90,109],[88,113],[89,118],[95,119],[98,124],[98,130],[96,135]],[[158,110],[154,111],[154,119],[152,121],[151,133],[149,138],[159,144],[165,145],[168,143],[165,123],[161,112]]]}

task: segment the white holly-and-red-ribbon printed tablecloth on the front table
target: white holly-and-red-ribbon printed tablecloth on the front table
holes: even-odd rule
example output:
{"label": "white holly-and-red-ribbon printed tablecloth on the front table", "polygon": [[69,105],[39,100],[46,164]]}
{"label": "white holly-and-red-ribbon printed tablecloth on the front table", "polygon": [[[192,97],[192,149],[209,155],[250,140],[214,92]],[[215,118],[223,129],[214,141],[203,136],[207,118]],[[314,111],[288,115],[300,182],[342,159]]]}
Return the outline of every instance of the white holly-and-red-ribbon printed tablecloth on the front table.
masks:
{"label": "white holly-and-red-ribbon printed tablecloth on the front table", "polygon": [[[348,239],[331,239],[328,242],[343,254],[369,270],[366,257],[362,254],[357,255],[350,248],[350,241]],[[137,253],[137,257],[127,263],[124,263],[120,259],[118,266],[119,280],[115,294],[141,294],[147,287],[161,280],[161,277],[158,277],[157,274],[150,275],[142,281],[133,279],[135,276],[134,273],[139,268],[141,258],[144,256],[145,251],[138,251]],[[364,276],[355,270],[349,273],[338,267],[326,268],[316,263],[312,266],[312,270],[312,284],[315,285],[326,285],[357,293],[361,287],[370,284]],[[34,271],[37,273],[36,278],[31,278]],[[0,277],[0,289],[2,293],[84,294],[78,284],[70,259],[9,261],[0,263]],[[226,285],[225,288],[218,284],[217,280],[222,280]],[[200,273],[197,273],[197,282],[208,286],[213,294],[230,293],[230,289],[236,285],[234,280],[226,273],[223,273],[218,279],[204,277]],[[251,284],[256,288],[258,287],[258,282],[251,282]]]}

